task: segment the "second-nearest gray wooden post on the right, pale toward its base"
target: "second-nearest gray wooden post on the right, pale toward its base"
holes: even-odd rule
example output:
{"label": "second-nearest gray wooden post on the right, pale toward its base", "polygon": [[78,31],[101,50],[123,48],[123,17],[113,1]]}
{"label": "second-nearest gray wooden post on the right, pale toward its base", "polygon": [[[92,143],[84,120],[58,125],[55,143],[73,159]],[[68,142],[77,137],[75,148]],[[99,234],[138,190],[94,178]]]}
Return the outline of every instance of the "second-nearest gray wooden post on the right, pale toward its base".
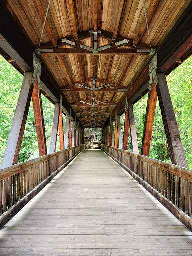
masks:
{"label": "second-nearest gray wooden post on the right, pale toward its base", "polygon": [[133,112],[133,105],[132,105],[132,103],[128,103],[128,116],[129,116],[129,124],[130,124],[132,151],[133,151],[133,153],[139,154],[137,135],[136,135],[136,127],[135,127],[135,122],[134,122],[134,112]]}

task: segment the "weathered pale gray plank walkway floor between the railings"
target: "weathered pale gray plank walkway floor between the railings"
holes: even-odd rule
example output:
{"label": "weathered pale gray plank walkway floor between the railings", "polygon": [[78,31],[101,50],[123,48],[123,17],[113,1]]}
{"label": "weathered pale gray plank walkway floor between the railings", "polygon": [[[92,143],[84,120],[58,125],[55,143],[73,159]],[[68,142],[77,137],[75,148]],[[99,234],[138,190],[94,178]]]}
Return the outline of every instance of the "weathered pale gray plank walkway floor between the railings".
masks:
{"label": "weathered pale gray plank walkway floor between the railings", "polygon": [[0,255],[192,255],[192,233],[101,150],[84,150],[0,231]]}

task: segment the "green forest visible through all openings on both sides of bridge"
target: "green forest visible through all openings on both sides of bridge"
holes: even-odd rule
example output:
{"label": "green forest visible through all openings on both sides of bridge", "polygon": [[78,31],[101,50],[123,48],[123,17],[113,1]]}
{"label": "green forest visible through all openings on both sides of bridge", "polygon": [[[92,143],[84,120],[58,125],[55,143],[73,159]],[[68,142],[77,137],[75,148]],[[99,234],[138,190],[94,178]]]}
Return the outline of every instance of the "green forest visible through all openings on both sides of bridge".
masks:
{"label": "green forest visible through all openings on both sides of bridge", "polygon": [[[16,109],[20,88],[22,85],[22,80],[23,76],[0,55],[0,162],[4,154],[8,134]],[[183,64],[181,64],[176,70],[174,70],[171,74],[167,76],[167,83],[189,168],[192,169],[192,57],[188,58]],[[148,93],[133,106],[139,152],[142,145],[147,97]],[[54,105],[43,95],[42,105],[44,112],[47,148],[49,148]],[[64,115],[63,126],[65,131]],[[121,115],[121,129],[123,134],[124,114]],[[92,131],[94,132],[94,130]],[[87,134],[88,133],[90,133],[90,130],[87,131]],[[101,132],[99,133],[99,138],[100,137]],[[171,162],[169,151],[167,150],[166,153],[166,148],[166,136],[164,132],[160,107],[157,101],[149,156],[155,159]],[[60,150],[59,139],[57,139],[56,146],[56,151],[58,150]],[[130,136],[128,140],[127,150],[131,151]],[[22,146],[19,154],[19,162],[36,158],[38,156],[39,154],[34,112],[31,102]]]}

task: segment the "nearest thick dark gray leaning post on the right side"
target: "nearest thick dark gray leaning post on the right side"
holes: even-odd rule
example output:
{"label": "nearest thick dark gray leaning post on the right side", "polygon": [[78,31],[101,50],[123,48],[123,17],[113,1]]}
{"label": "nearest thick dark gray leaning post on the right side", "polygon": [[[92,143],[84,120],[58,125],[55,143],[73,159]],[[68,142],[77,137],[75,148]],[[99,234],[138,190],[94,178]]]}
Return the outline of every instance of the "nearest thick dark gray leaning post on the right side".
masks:
{"label": "nearest thick dark gray leaning post on the right side", "polygon": [[186,155],[180,138],[178,124],[174,114],[165,73],[157,73],[158,84],[156,91],[164,123],[164,129],[173,164],[188,168]]}

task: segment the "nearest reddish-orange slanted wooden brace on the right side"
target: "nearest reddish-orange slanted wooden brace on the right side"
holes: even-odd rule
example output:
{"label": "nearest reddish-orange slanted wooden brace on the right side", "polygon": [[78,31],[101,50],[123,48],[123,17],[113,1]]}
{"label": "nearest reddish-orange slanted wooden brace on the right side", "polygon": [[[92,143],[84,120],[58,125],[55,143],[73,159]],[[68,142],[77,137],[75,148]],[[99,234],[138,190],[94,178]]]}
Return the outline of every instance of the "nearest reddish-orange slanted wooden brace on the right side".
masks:
{"label": "nearest reddish-orange slanted wooden brace on the right side", "polygon": [[148,91],[148,101],[147,101],[147,107],[146,107],[144,131],[143,131],[143,138],[142,138],[142,148],[141,148],[141,154],[145,156],[149,156],[149,152],[150,152],[154,115],[156,110],[156,101],[157,101],[157,93],[156,93],[154,80],[152,79],[151,90]]}

